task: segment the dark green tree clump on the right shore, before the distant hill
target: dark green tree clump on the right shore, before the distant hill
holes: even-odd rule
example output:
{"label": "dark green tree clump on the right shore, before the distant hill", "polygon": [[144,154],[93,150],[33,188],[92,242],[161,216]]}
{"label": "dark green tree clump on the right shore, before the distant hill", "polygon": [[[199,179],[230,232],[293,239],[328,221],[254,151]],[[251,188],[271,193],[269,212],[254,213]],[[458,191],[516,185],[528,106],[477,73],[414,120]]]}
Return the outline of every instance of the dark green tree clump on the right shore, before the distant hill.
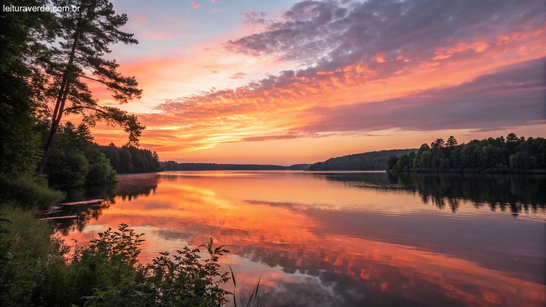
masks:
{"label": "dark green tree clump on the right shore, before the distant hill", "polygon": [[391,156],[389,171],[417,172],[525,172],[546,168],[546,139],[509,134],[458,145],[453,136],[423,144],[417,154]]}

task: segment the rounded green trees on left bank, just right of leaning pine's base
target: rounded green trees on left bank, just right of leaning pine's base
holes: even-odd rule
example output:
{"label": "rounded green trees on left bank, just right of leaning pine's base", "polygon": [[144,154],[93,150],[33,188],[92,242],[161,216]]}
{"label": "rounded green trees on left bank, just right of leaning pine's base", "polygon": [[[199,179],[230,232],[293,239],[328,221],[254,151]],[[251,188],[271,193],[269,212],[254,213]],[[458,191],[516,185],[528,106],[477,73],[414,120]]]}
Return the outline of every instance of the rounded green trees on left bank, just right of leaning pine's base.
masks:
{"label": "rounded green trees on left bank, just right of leaning pine's base", "polygon": [[44,170],[52,186],[75,188],[116,182],[116,171],[92,142],[84,123],[77,128],[71,122],[61,125],[56,140]]}

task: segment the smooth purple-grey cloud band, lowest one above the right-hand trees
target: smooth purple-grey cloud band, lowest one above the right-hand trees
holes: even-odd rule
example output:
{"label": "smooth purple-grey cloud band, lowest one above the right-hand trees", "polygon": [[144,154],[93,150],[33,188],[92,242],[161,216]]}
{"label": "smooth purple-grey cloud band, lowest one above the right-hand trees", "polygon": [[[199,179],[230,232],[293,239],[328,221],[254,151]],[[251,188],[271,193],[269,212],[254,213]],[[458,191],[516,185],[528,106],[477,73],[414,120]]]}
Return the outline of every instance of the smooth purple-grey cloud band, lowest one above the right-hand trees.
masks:
{"label": "smooth purple-grey cloud band, lowest one above the right-hand trees", "polygon": [[406,97],[337,107],[315,107],[316,123],[292,133],[476,128],[494,131],[546,123],[546,58],[506,67],[459,86]]}

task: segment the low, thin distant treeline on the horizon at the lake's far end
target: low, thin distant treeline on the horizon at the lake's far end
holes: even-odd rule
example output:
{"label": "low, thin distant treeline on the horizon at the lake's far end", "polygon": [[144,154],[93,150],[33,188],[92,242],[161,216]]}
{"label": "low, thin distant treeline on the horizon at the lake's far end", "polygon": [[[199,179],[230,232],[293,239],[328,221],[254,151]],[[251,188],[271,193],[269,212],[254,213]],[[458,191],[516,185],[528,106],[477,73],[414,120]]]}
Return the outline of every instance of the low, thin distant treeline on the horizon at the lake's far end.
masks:
{"label": "low, thin distant treeline on the horizon at the lake's far end", "polygon": [[159,164],[165,171],[257,171],[286,170],[287,168],[282,165],[179,163],[175,161],[162,161]]}

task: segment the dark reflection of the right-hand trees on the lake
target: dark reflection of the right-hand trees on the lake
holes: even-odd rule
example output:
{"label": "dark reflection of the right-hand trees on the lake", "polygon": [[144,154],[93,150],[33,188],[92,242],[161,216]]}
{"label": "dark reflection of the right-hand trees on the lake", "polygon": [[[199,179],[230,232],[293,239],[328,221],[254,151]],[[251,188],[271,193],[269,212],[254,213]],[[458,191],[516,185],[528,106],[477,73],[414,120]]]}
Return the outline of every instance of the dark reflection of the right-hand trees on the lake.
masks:
{"label": "dark reflection of the right-hand trees on the lake", "polygon": [[513,215],[546,209],[546,176],[530,174],[467,173],[329,173],[316,174],[352,186],[417,192],[424,203],[456,212],[461,200],[476,208],[509,210]]}

